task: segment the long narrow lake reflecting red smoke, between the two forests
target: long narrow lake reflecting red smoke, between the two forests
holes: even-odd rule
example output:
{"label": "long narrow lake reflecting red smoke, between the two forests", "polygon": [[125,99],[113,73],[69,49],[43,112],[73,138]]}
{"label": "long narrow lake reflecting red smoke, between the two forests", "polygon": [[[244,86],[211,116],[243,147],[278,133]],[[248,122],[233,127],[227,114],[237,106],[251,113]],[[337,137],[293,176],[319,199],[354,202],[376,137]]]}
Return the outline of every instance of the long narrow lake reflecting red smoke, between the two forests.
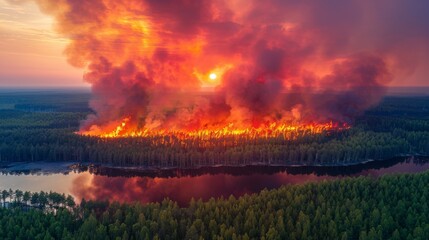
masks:
{"label": "long narrow lake reflecting red smoke, between the two forests", "polygon": [[388,173],[418,173],[429,169],[427,158],[395,158],[355,166],[313,167],[216,167],[195,170],[140,171],[108,167],[66,172],[11,171],[3,169],[0,189],[55,191],[80,201],[143,203],[168,197],[185,205],[191,198],[236,197],[286,184],[303,184],[344,177],[378,177]]}

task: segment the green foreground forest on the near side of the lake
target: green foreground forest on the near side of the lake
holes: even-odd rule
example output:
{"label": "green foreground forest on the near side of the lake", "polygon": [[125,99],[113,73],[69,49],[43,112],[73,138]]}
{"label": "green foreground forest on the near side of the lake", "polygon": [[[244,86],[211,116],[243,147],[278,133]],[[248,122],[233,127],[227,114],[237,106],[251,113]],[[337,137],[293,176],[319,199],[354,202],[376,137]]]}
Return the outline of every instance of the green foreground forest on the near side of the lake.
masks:
{"label": "green foreground forest on the near side of the lake", "polygon": [[[427,239],[429,172],[288,185],[240,198],[0,208],[1,239]],[[46,209],[49,204],[46,204]],[[42,209],[42,210],[40,210]]]}

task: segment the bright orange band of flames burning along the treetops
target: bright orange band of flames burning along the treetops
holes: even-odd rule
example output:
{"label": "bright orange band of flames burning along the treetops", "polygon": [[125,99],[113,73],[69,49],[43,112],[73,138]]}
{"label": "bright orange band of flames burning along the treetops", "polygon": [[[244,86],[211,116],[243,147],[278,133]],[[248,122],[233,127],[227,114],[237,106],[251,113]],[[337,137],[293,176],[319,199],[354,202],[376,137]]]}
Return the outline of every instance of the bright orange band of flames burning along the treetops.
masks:
{"label": "bright orange band of flames burning along the treetops", "polygon": [[346,123],[309,123],[309,124],[286,124],[270,123],[259,127],[236,127],[230,123],[223,127],[212,127],[206,129],[186,130],[186,129],[141,129],[136,130],[129,126],[130,118],[124,118],[113,131],[103,132],[96,126],[89,131],[81,132],[86,136],[98,136],[100,138],[138,138],[138,137],[162,137],[174,136],[179,139],[198,138],[200,140],[209,140],[224,138],[229,136],[245,136],[251,139],[284,137],[291,139],[294,133],[301,134],[321,134],[329,131],[341,131],[349,129]]}

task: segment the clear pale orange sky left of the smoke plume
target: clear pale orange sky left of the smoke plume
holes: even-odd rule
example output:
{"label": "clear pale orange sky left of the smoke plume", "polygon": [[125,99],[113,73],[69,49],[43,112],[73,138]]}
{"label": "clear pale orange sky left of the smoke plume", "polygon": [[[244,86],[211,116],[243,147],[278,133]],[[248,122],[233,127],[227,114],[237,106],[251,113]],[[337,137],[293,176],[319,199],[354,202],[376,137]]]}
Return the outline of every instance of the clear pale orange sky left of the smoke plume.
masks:
{"label": "clear pale orange sky left of the smoke plume", "polygon": [[81,87],[83,70],[67,63],[68,40],[35,2],[0,0],[0,87]]}

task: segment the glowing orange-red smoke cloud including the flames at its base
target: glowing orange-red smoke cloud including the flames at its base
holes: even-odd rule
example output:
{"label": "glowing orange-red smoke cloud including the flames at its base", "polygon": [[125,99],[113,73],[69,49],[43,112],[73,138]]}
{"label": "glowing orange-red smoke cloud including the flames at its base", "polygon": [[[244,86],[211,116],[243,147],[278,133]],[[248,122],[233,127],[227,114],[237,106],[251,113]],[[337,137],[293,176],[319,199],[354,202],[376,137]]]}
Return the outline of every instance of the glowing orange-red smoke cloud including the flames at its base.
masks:
{"label": "glowing orange-red smoke cloud including the flames at its base", "polygon": [[92,86],[83,135],[294,139],[348,128],[340,123],[373,106],[389,78],[382,56],[322,54],[337,41],[282,4],[40,4]]}

